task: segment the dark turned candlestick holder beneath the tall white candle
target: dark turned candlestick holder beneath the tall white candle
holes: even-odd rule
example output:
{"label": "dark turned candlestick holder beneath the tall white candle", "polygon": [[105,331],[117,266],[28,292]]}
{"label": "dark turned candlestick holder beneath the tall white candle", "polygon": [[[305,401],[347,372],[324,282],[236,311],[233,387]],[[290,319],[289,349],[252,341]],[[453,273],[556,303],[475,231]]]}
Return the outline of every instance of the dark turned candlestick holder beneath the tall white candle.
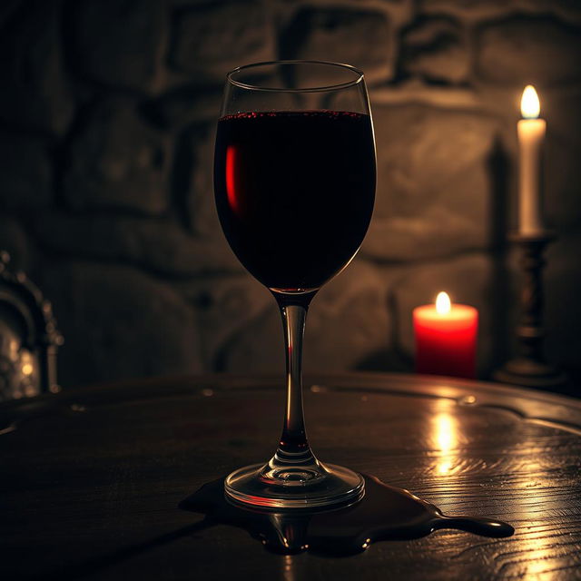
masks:
{"label": "dark turned candlestick holder beneath the tall white candle", "polygon": [[545,329],[542,272],[546,264],[543,253],[547,244],[555,238],[552,231],[509,234],[508,239],[521,251],[521,313],[516,332],[517,357],[510,359],[502,369],[496,371],[494,378],[497,381],[539,389],[556,389],[567,382],[566,375],[548,364],[543,356]]}

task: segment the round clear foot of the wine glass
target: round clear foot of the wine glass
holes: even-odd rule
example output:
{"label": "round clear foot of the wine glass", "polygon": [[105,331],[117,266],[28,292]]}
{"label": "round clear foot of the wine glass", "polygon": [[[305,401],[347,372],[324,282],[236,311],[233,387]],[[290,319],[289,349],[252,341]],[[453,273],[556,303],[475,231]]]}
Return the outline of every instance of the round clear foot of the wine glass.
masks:
{"label": "round clear foot of the wine glass", "polygon": [[285,468],[277,478],[267,464],[234,470],[224,480],[227,497],[261,508],[316,508],[351,504],[365,494],[363,477],[349,468],[320,464],[317,474],[303,474],[305,468]]}

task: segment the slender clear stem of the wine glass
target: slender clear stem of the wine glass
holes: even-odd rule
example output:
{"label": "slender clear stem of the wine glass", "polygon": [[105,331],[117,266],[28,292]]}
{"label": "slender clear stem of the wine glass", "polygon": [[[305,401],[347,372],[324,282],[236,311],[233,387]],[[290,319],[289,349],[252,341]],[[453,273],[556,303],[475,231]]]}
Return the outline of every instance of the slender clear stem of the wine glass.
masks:
{"label": "slender clear stem of the wine glass", "polygon": [[[314,293],[313,293],[314,294]],[[281,308],[284,344],[287,354],[287,403],[281,442],[275,458],[283,464],[316,462],[310,451],[302,409],[302,339],[312,295],[301,295],[291,302],[277,297]]]}

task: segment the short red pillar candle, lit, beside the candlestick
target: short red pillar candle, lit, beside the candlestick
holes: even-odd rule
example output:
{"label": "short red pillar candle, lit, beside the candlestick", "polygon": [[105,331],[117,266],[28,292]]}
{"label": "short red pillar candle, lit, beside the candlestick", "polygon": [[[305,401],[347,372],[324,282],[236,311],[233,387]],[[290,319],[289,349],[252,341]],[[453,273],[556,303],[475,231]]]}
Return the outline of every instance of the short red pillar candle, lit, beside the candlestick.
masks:
{"label": "short red pillar candle, lit, beside the candlestick", "polygon": [[476,376],[478,310],[450,304],[440,292],[435,305],[413,311],[416,371],[461,378]]}

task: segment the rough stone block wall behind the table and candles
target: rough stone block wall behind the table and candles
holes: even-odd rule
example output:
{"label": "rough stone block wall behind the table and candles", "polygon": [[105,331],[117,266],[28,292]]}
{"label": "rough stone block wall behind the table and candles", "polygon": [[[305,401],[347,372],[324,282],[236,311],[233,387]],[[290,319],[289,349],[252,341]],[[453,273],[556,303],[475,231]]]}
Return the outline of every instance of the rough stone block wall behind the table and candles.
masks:
{"label": "rough stone block wall behind the table and candles", "polygon": [[0,247],[54,302],[64,386],[279,371],[271,296],[225,244],[212,141],[231,67],[320,58],[366,72],[376,211],[313,302],[307,369],[410,369],[410,311],[480,310],[479,373],[515,318],[516,123],[547,119],[549,357],[581,363],[581,5],[576,0],[5,0]]}

